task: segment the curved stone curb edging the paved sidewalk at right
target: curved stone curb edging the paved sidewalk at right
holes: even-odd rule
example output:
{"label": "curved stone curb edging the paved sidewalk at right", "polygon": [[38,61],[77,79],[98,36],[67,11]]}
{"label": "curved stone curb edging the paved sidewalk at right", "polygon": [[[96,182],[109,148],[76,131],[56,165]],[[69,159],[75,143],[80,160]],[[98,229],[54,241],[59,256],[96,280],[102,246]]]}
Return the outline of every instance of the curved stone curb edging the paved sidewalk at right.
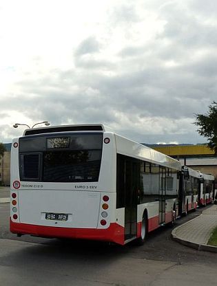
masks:
{"label": "curved stone curb edging the paved sidewalk at right", "polygon": [[[203,215],[203,214],[200,214],[198,217],[200,217],[201,215]],[[194,219],[197,219],[198,217],[195,217]],[[194,248],[195,250],[217,253],[217,247],[216,246],[195,243],[193,241],[186,241],[184,239],[180,239],[180,237],[176,235],[176,230],[181,228],[183,225],[185,225],[185,224],[187,224],[189,222],[194,221],[194,219],[191,219],[190,221],[187,221],[186,223],[183,223],[182,225],[179,225],[177,228],[174,228],[174,230],[172,230],[172,233],[171,233],[172,239],[174,239],[174,241],[177,241],[178,243],[181,243],[181,244],[183,244],[185,246],[188,246],[189,248]]]}

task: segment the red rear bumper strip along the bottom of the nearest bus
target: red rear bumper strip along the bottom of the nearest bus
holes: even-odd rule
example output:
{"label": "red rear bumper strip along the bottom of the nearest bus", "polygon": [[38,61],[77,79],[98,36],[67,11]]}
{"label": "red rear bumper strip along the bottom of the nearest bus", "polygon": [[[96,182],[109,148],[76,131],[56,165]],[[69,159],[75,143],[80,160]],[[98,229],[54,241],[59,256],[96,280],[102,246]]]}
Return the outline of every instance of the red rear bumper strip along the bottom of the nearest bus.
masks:
{"label": "red rear bumper strip along the bottom of the nearest bus", "polygon": [[107,229],[56,228],[53,226],[32,225],[28,223],[14,223],[10,219],[10,232],[41,237],[92,239],[96,241],[111,241],[121,245],[124,244],[124,228],[117,223],[111,223]]}

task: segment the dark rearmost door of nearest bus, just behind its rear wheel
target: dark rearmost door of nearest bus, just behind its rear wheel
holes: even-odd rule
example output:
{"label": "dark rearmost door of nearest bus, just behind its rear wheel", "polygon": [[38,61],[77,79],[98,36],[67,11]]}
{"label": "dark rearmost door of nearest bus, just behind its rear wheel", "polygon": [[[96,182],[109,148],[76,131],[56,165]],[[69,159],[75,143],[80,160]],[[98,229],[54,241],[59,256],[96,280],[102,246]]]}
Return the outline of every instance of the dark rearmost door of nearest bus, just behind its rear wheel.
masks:
{"label": "dark rearmost door of nearest bus, just behind its rear wheel", "polygon": [[141,185],[141,163],[125,159],[125,241],[137,234],[137,199]]}

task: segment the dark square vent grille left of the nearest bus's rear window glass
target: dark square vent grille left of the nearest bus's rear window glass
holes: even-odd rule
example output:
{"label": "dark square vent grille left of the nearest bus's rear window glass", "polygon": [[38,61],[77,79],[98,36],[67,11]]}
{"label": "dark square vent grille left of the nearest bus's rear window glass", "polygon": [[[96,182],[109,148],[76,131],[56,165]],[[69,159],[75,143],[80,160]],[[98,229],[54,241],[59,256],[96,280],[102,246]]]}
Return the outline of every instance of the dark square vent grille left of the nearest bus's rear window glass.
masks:
{"label": "dark square vent grille left of the nearest bus's rear window glass", "polygon": [[21,180],[39,180],[40,153],[21,154]]}

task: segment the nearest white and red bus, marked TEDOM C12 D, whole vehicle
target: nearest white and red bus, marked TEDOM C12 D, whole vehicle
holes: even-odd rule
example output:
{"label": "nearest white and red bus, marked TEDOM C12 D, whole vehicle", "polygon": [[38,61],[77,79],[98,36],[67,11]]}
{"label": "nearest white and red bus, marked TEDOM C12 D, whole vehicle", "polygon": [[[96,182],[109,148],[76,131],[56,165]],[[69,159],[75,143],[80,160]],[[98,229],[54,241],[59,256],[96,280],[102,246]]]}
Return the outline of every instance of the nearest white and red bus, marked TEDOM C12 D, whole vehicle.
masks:
{"label": "nearest white and red bus, marked TEDOM C12 D, whole vehicle", "polygon": [[180,170],[103,124],[28,129],[12,142],[10,231],[143,243],[173,223]]}

